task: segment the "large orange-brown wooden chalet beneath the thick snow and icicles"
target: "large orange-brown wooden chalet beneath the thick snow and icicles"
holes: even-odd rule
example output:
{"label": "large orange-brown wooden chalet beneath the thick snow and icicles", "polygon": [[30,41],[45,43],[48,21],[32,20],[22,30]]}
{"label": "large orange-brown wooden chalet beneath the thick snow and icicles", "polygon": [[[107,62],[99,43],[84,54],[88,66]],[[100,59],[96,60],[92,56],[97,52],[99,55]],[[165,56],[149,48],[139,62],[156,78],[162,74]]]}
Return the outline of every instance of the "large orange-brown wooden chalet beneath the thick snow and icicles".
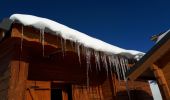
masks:
{"label": "large orange-brown wooden chalet beneath the thick snow and icicles", "polygon": [[[48,34],[52,32],[46,28],[43,36],[39,29],[17,21],[1,22],[0,100],[153,100],[148,82],[128,81],[129,97],[127,83],[119,81],[113,69],[106,71],[100,62],[96,70],[94,55],[87,69],[83,47],[79,59],[76,43],[62,44],[62,37]],[[129,65],[135,62],[128,60]]]}

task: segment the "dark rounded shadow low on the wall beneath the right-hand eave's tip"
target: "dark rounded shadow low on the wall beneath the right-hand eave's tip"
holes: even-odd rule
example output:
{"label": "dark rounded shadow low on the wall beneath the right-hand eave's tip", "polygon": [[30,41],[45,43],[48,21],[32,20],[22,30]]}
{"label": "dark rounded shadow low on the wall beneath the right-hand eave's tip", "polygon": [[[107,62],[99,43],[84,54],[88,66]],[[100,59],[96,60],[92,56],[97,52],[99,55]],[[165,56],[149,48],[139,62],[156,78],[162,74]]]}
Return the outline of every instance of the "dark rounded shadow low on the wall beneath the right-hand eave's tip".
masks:
{"label": "dark rounded shadow low on the wall beneath the right-hand eave's tip", "polygon": [[[127,91],[120,91],[117,93],[117,100],[128,100]],[[131,100],[154,100],[152,95],[143,90],[130,90]]]}

